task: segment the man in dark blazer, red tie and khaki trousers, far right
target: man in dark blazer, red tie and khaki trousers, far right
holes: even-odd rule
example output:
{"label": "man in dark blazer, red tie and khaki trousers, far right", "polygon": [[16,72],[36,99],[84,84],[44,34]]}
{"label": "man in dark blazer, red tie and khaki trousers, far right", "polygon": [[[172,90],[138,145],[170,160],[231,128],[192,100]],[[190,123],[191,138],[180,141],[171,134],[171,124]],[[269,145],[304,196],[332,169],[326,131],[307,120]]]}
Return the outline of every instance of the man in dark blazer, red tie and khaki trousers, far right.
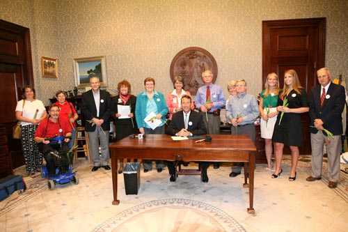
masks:
{"label": "man in dark blazer, red tie and khaki trousers, far right", "polygon": [[[312,175],[307,181],[322,178],[324,141],[328,156],[329,188],[337,187],[340,178],[340,146],[342,129],[342,111],[345,107],[345,88],[331,82],[329,68],[317,71],[319,85],[310,90],[309,115],[310,143],[312,146]],[[328,130],[333,137],[324,131]]]}

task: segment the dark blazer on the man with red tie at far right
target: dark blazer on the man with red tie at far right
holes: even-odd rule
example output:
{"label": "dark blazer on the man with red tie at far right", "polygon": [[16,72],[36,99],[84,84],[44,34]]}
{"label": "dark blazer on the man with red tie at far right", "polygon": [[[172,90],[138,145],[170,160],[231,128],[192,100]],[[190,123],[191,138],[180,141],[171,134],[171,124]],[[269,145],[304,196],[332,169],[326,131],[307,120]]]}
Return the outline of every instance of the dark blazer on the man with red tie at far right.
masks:
{"label": "dark blazer on the man with red tie at far right", "polygon": [[[326,97],[330,96],[330,98],[325,98],[323,105],[320,106],[321,88],[321,85],[317,85],[310,90],[310,125],[314,125],[315,119],[321,118],[326,130],[329,130],[333,135],[343,134],[342,111],[346,103],[345,88],[331,82],[326,93]],[[315,127],[310,127],[310,132],[317,134],[318,130]]]}

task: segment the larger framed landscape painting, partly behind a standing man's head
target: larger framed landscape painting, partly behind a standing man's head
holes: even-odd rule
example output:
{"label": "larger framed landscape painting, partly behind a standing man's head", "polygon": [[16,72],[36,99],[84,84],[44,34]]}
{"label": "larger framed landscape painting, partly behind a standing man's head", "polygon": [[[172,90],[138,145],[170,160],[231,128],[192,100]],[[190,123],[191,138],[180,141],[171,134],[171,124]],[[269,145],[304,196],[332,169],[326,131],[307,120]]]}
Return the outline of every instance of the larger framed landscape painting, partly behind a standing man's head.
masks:
{"label": "larger framed landscape painting, partly behind a standing man's head", "polygon": [[99,77],[100,86],[107,86],[105,56],[74,59],[75,86],[89,86],[90,77]]}

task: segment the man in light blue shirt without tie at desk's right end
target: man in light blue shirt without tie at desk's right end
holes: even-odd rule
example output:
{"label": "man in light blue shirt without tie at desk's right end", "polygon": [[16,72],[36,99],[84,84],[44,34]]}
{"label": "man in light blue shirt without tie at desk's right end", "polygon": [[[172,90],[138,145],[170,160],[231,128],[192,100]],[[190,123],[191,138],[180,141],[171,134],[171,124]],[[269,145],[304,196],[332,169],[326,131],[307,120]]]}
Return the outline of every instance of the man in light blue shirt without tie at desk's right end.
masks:
{"label": "man in light blue shirt without tie at desk's right end", "polygon": [[[226,105],[227,121],[232,124],[231,134],[246,134],[255,144],[255,118],[260,111],[256,98],[246,93],[246,81],[239,79],[236,82],[237,94],[228,98]],[[234,163],[230,177],[238,176],[242,171],[242,163]]]}

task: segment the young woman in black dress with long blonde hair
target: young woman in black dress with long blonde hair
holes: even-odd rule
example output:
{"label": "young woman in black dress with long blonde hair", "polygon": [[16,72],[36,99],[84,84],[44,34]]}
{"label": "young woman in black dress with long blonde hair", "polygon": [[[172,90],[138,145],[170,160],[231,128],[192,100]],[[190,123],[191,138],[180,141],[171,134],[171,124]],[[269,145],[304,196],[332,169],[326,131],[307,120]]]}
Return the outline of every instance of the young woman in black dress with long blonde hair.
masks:
{"label": "young woman in black dress with long blonde hair", "polygon": [[283,172],[281,162],[284,144],[290,146],[292,164],[289,181],[296,180],[296,166],[299,160],[299,146],[302,145],[301,114],[308,112],[308,96],[306,89],[301,87],[295,70],[286,70],[284,88],[278,95],[277,111],[279,111],[272,136],[276,169],[272,178],[278,178]]}

